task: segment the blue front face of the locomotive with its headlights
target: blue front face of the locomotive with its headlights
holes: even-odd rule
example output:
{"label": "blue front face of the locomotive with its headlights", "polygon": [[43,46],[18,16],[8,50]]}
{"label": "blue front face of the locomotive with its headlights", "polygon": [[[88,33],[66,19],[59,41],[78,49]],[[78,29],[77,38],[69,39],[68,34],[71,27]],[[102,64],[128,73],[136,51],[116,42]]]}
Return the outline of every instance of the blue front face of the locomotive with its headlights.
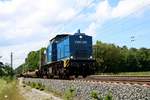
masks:
{"label": "blue front face of the locomotive with its headlights", "polygon": [[87,60],[92,58],[92,37],[85,35],[85,33],[75,33],[70,37],[70,51],[71,59]]}

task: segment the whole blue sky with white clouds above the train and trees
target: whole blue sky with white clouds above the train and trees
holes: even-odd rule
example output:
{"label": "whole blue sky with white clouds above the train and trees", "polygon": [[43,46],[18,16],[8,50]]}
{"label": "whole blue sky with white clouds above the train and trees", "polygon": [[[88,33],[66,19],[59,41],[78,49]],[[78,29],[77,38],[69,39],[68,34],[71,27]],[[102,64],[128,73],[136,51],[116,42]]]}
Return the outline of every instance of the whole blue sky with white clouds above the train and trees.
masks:
{"label": "whole blue sky with white clouds above the train and trees", "polygon": [[10,63],[13,52],[16,68],[55,35],[77,29],[93,44],[150,48],[150,0],[0,0],[0,61]]}

